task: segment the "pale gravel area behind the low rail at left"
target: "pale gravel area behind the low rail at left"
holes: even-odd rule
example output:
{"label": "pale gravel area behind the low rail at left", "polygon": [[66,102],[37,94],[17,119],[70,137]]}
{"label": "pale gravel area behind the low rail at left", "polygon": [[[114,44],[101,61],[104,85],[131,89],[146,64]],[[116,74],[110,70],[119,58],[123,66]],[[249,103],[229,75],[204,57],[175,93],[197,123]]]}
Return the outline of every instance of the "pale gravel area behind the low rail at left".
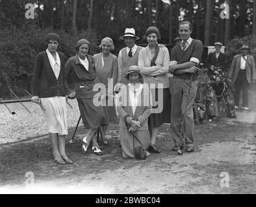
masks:
{"label": "pale gravel area behind the low rail at left", "polygon": [[[68,128],[75,127],[79,119],[79,109],[76,100],[68,100]],[[8,103],[8,108],[16,114],[12,116],[4,104],[0,104],[0,144],[27,140],[36,136],[47,135],[47,125],[44,113],[39,105],[24,102],[29,113],[20,103]],[[80,122],[83,125],[83,122]]]}

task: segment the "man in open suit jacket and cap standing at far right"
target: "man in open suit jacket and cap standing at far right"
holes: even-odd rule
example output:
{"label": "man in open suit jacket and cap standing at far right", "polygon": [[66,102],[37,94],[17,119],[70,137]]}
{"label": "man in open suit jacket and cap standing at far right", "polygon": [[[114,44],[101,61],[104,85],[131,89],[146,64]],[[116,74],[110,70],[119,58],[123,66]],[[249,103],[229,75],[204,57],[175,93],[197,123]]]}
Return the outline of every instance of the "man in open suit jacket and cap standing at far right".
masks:
{"label": "man in open suit jacket and cap standing at far right", "polygon": [[249,45],[242,45],[241,54],[233,58],[229,72],[229,80],[235,83],[235,109],[238,109],[240,92],[242,90],[242,109],[248,108],[248,91],[250,83],[255,83],[255,62],[253,56],[250,56]]}

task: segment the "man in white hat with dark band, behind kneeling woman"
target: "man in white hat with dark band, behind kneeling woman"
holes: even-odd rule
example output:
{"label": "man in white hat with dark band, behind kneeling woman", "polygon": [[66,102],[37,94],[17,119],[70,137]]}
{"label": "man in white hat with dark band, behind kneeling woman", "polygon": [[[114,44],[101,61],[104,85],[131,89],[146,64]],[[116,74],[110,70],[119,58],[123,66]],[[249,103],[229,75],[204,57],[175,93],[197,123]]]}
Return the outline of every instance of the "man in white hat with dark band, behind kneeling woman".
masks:
{"label": "man in white hat with dark band, behind kneeling woman", "polygon": [[134,28],[125,28],[125,34],[120,37],[125,41],[127,47],[120,50],[118,54],[118,83],[128,84],[125,78],[131,65],[138,65],[138,53],[143,47],[137,46],[135,41],[140,39],[135,36]]}

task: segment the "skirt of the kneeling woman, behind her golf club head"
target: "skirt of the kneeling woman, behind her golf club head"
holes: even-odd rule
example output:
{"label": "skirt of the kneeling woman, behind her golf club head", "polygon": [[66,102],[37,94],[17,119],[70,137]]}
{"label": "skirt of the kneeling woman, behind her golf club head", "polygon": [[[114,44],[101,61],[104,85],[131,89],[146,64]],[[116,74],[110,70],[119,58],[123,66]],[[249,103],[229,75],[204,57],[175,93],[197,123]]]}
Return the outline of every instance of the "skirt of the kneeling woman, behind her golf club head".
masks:
{"label": "skirt of the kneeling woman, behind her golf club head", "polygon": [[[147,149],[150,144],[150,135],[148,130],[138,130],[134,133],[140,139],[142,145]],[[120,142],[122,145],[122,155],[124,158],[134,158],[133,135],[127,129],[120,127]],[[140,143],[134,138],[134,146],[140,146]]]}

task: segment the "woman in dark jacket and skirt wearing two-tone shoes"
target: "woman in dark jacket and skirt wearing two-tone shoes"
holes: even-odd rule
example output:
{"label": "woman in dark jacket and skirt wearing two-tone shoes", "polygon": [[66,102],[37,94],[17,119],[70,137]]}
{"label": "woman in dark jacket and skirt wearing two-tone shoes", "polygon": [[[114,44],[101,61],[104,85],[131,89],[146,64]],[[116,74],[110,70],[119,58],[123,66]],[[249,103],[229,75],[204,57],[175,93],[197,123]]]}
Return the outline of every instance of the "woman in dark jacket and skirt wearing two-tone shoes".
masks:
{"label": "woman in dark jacket and skirt wearing two-tone shoes", "polygon": [[83,138],[83,153],[87,153],[88,146],[92,142],[92,151],[96,155],[102,155],[95,135],[99,127],[109,124],[109,118],[104,107],[94,104],[94,98],[97,94],[93,88],[97,79],[93,58],[88,55],[90,42],[86,39],[80,39],[77,41],[75,50],[77,54],[71,57],[65,65],[66,79],[70,75],[75,81],[75,93],[71,93],[66,83],[67,90],[70,91],[68,98],[77,98],[84,127],[90,129],[88,135]]}

